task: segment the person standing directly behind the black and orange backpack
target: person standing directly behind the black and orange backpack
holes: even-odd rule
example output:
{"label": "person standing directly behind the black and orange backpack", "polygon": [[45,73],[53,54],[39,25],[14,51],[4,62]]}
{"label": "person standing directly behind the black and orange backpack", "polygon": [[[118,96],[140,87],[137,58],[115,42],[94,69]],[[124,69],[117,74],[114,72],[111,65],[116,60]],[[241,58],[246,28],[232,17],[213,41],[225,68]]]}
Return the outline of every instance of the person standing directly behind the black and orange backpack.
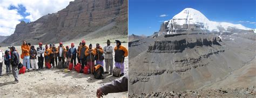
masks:
{"label": "person standing directly behind the black and orange backpack", "polygon": [[96,55],[95,55],[95,60],[96,60],[96,64],[100,64],[102,65],[102,67],[104,67],[104,63],[103,63],[103,59],[104,59],[104,55],[103,55],[103,48],[99,46],[99,43],[96,44]]}

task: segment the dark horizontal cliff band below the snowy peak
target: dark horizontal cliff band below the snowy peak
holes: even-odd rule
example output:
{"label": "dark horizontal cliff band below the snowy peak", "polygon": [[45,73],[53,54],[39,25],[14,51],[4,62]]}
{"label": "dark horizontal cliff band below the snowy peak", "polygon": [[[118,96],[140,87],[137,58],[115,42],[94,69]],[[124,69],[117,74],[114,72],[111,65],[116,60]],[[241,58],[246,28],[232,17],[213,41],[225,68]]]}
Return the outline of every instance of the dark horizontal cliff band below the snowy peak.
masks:
{"label": "dark horizontal cliff band below the snowy peak", "polygon": [[161,40],[155,41],[153,46],[149,46],[147,52],[176,53],[182,52],[185,48],[194,48],[197,46],[220,46],[220,41],[221,39],[218,36],[184,37],[184,39],[180,40]]}

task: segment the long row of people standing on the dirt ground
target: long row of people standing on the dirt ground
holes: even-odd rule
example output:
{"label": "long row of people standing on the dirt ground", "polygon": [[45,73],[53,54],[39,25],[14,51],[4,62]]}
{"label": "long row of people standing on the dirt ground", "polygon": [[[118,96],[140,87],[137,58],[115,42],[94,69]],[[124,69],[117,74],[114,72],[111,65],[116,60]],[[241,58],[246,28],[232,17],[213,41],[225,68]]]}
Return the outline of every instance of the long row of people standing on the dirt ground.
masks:
{"label": "long row of people standing on the dirt ground", "polygon": [[[84,69],[85,65],[89,65],[89,69],[93,69],[92,67],[95,64],[102,65],[104,67],[104,59],[105,59],[105,73],[112,74],[113,71],[113,50],[114,50],[114,62],[115,66],[121,69],[120,76],[124,76],[124,58],[128,55],[128,50],[122,46],[119,40],[116,40],[116,46],[113,48],[110,45],[110,40],[107,40],[107,45],[102,48],[99,43],[96,44],[96,48],[92,48],[92,44],[89,44],[89,47],[86,46],[85,40],[79,43],[78,48],[75,48],[75,44],[71,43],[71,48],[69,46],[64,47],[63,43],[60,42],[59,46],[56,47],[55,44],[45,44],[43,47],[43,43],[39,42],[39,47],[35,48],[35,46],[31,46],[30,43],[26,43],[23,41],[21,46],[22,54],[21,58],[23,59],[23,65],[28,69],[28,72],[32,68],[32,70],[41,70],[44,69],[44,63],[50,63],[52,67],[57,66],[58,63],[64,64],[66,61],[73,63],[73,65],[77,65],[76,61],[82,65],[82,69]],[[12,74],[15,77],[15,82],[18,82],[18,69],[17,66],[19,64],[19,54],[14,46],[9,47],[9,50],[5,51],[5,55],[1,56],[0,51],[0,75],[2,76],[2,63],[1,57],[4,57],[4,63],[6,65],[6,73],[10,74],[10,67],[8,64],[12,66]],[[3,54],[2,54],[3,55]],[[91,70],[90,70],[91,71]]]}

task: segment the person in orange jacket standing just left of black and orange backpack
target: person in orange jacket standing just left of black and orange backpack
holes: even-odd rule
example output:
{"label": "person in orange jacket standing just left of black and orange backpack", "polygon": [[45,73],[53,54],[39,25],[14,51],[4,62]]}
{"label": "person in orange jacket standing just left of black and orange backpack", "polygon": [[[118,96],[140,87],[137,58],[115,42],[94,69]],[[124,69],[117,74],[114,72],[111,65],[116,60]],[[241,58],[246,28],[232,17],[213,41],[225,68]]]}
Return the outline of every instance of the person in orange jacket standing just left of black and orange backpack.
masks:
{"label": "person in orange jacket standing just left of black and orange backpack", "polygon": [[96,50],[92,49],[92,44],[89,45],[89,49],[86,49],[85,51],[85,56],[87,65],[89,65],[90,73],[93,73],[93,67],[95,66],[95,55],[96,55]]}

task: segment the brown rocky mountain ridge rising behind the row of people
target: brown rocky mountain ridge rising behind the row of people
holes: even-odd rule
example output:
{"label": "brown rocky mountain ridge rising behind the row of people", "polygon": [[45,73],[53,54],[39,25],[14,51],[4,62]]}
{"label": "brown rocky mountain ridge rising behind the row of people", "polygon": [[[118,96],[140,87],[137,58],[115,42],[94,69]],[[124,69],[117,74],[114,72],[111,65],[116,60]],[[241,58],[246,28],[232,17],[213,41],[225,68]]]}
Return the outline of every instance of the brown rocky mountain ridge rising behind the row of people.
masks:
{"label": "brown rocky mountain ridge rising behind the row of people", "polygon": [[127,20],[127,0],[75,0],[65,9],[36,21],[21,21],[3,43],[57,43],[82,39],[91,33],[95,34],[91,34],[93,37],[127,35]]}

